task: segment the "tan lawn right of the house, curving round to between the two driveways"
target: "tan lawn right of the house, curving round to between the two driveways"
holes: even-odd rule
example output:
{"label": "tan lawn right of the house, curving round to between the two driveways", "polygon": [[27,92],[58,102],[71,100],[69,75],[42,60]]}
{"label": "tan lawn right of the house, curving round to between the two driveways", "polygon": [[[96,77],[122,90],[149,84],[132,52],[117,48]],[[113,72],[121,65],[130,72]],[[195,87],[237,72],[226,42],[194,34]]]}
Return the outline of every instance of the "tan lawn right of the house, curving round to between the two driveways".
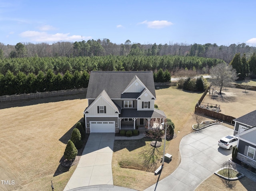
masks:
{"label": "tan lawn right of the house, curving round to between the two driveways", "polygon": [[[168,118],[175,124],[175,132],[177,137],[170,140],[166,144],[166,153],[172,154],[172,161],[165,163],[162,170],[160,179],[170,175],[180,164],[179,145],[183,136],[192,132],[192,116],[194,107],[202,93],[189,93],[177,89],[177,87],[170,87],[167,89],[156,90],[156,102],[160,110],[163,110]],[[114,152],[112,157],[112,173],[114,185],[129,187],[136,190],[144,190],[150,185],[156,183],[158,176],[155,176],[152,172],[140,171],[135,169],[121,168],[119,163],[121,161],[129,161],[136,156],[134,152],[140,152],[143,150],[147,141],[143,140],[142,146],[135,150],[130,150],[129,147],[121,146],[122,149],[118,149]],[[115,144],[122,144],[122,142],[115,142]],[[128,143],[125,143],[128,144]],[[130,144],[133,144],[130,142]],[[127,159],[128,158],[128,159]],[[134,160],[136,161],[136,159]],[[161,163],[159,162],[160,166]]]}

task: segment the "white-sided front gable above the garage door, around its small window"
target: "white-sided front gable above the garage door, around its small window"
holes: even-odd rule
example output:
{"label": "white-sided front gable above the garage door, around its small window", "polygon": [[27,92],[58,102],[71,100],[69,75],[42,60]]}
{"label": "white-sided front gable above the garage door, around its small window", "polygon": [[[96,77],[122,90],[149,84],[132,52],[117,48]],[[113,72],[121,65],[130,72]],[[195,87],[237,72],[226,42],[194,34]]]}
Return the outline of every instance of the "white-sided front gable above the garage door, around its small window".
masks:
{"label": "white-sided front gable above the garage door, around its small window", "polygon": [[[97,106],[106,106],[106,113],[98,113]],[[100,97],[95,103],[93,103],[92,107],[89,108],[86,116],[116,116],[116,110],[106,102],[102,97]]]}

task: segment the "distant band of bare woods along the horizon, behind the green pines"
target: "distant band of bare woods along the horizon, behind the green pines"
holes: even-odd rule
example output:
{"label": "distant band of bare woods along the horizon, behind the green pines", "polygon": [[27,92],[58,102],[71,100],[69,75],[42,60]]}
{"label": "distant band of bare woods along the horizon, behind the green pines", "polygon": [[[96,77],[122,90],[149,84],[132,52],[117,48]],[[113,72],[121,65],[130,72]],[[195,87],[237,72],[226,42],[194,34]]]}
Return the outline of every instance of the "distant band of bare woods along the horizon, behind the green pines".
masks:
{"label": "distant band of bare woods along the horizon, behind the green pines", "polygon": [[246,53],[248,59],[256,47],[238,43],[220,45],[216,43],[187,44],[140,44],[126,40],[124,43],[112,43],[109,39],[97,39],[88,41],[56,42],[56,43],[17,43],[16,45],[4,45],[0,43],[0,59],[8,57],[79,57],[79,56],[104,56],[104,55],[183,55],[199,56],[223,59],[230,63],[236,53]]}

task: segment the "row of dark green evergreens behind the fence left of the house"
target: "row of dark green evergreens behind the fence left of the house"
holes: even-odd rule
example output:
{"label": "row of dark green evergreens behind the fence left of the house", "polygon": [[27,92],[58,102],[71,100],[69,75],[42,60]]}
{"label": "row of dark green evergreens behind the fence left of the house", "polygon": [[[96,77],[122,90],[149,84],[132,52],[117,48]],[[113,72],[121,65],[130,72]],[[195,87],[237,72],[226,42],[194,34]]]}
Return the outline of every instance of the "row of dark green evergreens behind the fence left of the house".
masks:
{"label": "row of dark green evergreens behind the fence left of the house", "polygon": [[45,91],[58,91],[88,87],[90,75],[87,71],[66,71],[64,75],[49,69],[46,73],[39,71],[37,75],[27,75],[19,71],[16,75],[8,70],[5,75],[0,74],[0,95],[13,95],[22,93],[36,93]]}

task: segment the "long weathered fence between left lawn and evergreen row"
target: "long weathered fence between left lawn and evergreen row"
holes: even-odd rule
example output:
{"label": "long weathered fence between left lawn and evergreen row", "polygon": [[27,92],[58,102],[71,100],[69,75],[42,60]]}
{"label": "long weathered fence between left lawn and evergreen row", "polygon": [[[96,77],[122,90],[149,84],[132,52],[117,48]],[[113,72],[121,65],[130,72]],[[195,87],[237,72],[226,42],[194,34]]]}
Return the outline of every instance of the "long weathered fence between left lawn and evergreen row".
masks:
{"label": "long weathered fence between left lawn and evergreen row", "polygon": [[86,93],[86,92],[87,92],[87,88],[80,88],[80,89],[59,90],[59,91],[51,91],[51,92],[4,95],[4,96],[0,96],[0,100],[1,102],[3,102],[3,101],[13,101],[13,100],[22,100],[22,99],[44,98],[44,97],[51,97],[51,96],[72,95],[72,94],[80,94],[80,93]]}

